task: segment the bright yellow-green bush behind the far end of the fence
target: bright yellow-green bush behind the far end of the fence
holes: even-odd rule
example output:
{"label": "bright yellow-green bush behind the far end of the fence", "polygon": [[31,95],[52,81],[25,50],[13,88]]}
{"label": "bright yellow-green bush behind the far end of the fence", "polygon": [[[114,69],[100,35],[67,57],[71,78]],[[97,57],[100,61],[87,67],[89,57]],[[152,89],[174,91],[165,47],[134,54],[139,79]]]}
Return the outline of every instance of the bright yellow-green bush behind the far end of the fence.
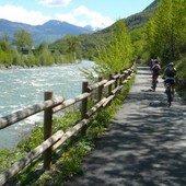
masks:
{"label": "bright yellow-green bush behind the far end of the fence", "polygon": [[97,46],[97,57],[94,58],[95,72],[107,77],[130,66],[132,60],[132,46],[129,33],[124,22],[115,23],[104,45]]}

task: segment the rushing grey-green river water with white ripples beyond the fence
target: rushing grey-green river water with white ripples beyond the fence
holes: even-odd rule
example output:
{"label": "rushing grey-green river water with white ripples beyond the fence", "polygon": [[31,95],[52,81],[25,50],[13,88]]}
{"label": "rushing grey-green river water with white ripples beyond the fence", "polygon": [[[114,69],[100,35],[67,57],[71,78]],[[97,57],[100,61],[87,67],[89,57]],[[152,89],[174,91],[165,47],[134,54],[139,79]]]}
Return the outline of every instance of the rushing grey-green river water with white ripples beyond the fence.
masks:
{"label": "rushing grey-green river water with white ripples beyond the fence", "polygon": [[[51,91],[54,96],[73,98],[81,94],[82,82],[85,80],[81,69],[91,70],[93,66],[92,61],[83,60],[73,65],[0,70],[0,117],[42,103],[46,91]],[[34,124],[42,119],[37,114],[1,129],[0,149],[15,147]]]}

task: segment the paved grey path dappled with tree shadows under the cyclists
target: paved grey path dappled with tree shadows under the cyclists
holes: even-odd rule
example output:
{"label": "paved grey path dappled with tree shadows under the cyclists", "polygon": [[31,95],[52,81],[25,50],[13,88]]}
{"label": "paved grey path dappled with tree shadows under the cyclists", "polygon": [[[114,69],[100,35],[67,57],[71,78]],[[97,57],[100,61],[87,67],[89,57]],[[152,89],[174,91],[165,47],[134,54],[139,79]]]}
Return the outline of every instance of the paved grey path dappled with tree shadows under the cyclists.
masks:
{"label": "paved grey path dappled with tree shadows under the cyclists", "polygon": [[149,68],[135,84],[108,131],[85,158],[84,174],[65,186],[185,186],[186,106],[175,95],[168,107],[161,79],[150,90]]}

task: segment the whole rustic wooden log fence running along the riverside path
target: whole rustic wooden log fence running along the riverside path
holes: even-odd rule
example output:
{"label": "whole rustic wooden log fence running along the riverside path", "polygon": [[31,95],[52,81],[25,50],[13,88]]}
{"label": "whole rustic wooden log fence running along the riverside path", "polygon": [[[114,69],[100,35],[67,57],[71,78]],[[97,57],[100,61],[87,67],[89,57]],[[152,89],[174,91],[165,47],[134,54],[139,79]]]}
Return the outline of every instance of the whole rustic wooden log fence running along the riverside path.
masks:
{"label": "whole rustic wooden log fence running along the riverside path", "polygon": [[[44,112],[44,142],[32,150],[26,156],[13,163],[9,168],[0,173],[0,185],[7,183],[11,177],[15,176],[21,170],[30,165],[36,158],[43,154],[44,170],[51,167],[51,152],[61,146],[66,140],[70,139],[74,133],[82,132],[85,135],[88,124],[91,116],[98,108],[107,106],[118,92],[124,88],[127,81],[132,77],[135,65],[127,70],[121,70],[109,79],[98,79],[98,82],[89,85],[88,82],[82,84],[82,94],[74,98],[65,100],[63,97],[53,98],[53,92],[45,92],[45,101],[40,104],[30,106],[18,111],[13,114],[0,118],[0,130],[21,121],[32,115]],[[107,88],[107,95],[103,90]],[[88,98],[96,92],[96,103],[88,111]],[[58,130],[53,133],[53,115],[75,103],[81,102],[81,120],[66,132]]]}

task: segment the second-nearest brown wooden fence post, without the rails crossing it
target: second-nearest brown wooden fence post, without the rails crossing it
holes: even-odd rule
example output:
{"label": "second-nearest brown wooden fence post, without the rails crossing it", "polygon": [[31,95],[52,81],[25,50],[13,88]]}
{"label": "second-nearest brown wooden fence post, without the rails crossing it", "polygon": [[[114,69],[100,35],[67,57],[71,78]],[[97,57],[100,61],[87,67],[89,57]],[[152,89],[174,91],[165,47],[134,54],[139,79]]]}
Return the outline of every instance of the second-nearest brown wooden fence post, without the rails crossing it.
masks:
{"label": "second-nearest brown wooden fence post, without the rails crossing it", "polygon": [[[84,81],[82,83],[82,93],[88,91],[88,81]],[[81,118],[85,118],[85,114],[88,112],[88,97],[82,100],[82,105],[81,105]],[[85,136],[86,133],[86,126],[84,126],[81,130],[81,133]]]}

